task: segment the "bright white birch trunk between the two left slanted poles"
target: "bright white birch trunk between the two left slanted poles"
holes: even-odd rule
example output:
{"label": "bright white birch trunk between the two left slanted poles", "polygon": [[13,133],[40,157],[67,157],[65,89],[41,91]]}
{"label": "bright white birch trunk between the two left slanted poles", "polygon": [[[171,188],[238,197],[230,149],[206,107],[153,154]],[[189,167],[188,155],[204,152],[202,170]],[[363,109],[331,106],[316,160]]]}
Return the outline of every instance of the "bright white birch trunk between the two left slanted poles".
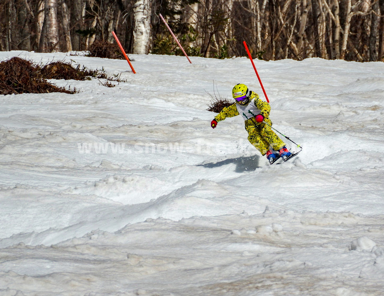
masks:
{"label": "bright white birch trunk between the two left slanted poles", "polygon": [[134,54],[148,54],[151,48],[151,5],[150,0],[137,0],[134,4]]}

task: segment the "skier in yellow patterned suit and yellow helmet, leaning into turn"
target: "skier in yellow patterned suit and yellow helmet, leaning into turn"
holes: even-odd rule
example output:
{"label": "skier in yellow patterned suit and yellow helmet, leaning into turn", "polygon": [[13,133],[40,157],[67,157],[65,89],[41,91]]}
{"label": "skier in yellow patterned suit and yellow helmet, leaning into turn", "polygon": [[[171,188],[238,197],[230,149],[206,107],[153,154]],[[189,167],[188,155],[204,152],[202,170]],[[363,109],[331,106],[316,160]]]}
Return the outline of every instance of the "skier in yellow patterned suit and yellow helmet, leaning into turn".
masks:
{"label": "skier in yellow patterned suit and yellow helmet, leaning into turn", "polygon": [[272,125],[271,120],[268,118],[271,110],[270,105],[260,100],[258,94],[249,90],[245,84],[236,84],[232,89],[232,97],[236,102],[228,107],[224,107],[212,120],[211,127],[215,128],[219,121],[227,117],[240,114],[245,120],[248,141],[262,155],[266,155],[269,163],[273,163],[279,157],[287,160],[291,155],[290,151],[288,151],[285,143],[269,126]]}

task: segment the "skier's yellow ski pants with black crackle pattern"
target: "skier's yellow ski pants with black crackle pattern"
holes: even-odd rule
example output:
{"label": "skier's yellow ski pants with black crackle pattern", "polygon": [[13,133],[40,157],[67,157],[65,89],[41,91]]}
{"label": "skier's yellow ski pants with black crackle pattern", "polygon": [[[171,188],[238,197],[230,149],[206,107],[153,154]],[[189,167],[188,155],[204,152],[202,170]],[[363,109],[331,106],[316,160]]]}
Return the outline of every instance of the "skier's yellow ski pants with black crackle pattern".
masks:
{"label": "skier's yellow ski pants with black crackle pattern", "polygon": [[[272,125],[269,118],[265,118],[264,121]],[[263,122],[247,122],[245,129],[248,132],[248,141],[250,141],[250,143],[255,146],[255,148],[260,151],[262,155],[266,154],[266,152],[270,149],[270,146],[272,146],[273,150],[276,151],[279,151],[280,148],[285,146],[285,143],[281,141],[275,132],[273,132],[271,127]]]}

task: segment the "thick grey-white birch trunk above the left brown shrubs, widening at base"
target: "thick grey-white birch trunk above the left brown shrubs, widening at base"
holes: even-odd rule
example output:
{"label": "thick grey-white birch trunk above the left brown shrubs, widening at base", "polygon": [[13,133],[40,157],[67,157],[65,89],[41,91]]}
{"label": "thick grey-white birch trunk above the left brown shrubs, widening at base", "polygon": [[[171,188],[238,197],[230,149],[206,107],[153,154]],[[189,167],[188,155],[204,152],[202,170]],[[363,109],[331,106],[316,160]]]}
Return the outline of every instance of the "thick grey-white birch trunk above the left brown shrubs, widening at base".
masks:
{"label": "thick grey-white birch trunk above the left brown shrubs, widening at base", "polygon": [[58,43],[57,0],[44,0],[44,21],[40,36],[39,52],[57,52],[60,50]]}

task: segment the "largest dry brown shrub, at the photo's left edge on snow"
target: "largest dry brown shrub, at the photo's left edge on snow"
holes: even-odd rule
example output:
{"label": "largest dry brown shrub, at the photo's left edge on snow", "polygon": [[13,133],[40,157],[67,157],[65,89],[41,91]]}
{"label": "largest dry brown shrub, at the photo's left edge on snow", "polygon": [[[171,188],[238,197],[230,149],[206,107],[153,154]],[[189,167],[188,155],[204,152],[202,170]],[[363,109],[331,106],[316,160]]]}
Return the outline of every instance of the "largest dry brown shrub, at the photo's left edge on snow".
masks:
{"label": "largest dry brown shrub, at the photo's left edge on snow", "polygon": [[33,62],[19,57],[13,57],[0,62],[0,94],[42,94],[47,92],[65,92],[74,94],[50,84],[41,74],[40,67]]}

